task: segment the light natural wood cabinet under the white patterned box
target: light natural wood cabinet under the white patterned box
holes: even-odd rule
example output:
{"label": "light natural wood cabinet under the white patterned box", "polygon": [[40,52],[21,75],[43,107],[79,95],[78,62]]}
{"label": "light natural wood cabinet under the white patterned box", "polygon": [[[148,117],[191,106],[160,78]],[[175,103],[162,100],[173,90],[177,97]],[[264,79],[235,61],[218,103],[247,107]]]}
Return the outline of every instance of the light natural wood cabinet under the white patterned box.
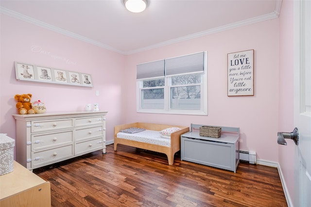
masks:
{"label": "light natural wood cabinet under the white patterned box", "polygon": [[50,182],[14,161],[14,170],[0,176],[0,207],[51,207]]}

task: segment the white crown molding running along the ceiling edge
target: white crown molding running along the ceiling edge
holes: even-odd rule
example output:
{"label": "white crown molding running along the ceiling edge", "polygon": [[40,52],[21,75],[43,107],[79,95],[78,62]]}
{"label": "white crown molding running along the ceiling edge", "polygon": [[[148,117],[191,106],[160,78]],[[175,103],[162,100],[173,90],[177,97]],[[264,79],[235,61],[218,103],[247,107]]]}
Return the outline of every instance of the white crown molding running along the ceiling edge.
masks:
{"label": "white crown molding running along the ceiling edge", "polygon": [[231,29],[242,27],[242,26],[246,26],[246,25],[250,25],[250,24],[255,24],[255,23],[262,22],[262,21],[266,21],[266,20],[271,20],[271,19],[277,18],[279,16],[279,13],[280,13],[281,3],[282,3],[282,0],[276,0],[275,11],[270,13],[270,14],[266,14],[266,15],[262,15],[262,16],[257,16],[257,17],[254,17],[254,18],[250,18],[250,19],[239,21],[239,22],[235,22],[233,24],[227,24],[227,25],[224,25],[224,26],[221,26],[221,27],[213,28],[213,29],[206,30],[206,31],[203,31],[203,32],[197,32],[197,33],[190,34],[190,35],[187,35],[187,36],[175,38],[175,39],[164,41],[164,42],[161,42],[161,43],[158,43],[158,44],[155,44],[155,45],[150,45],[150,46],[147,46],[147,47],[144,47],[144,48],[138,48],[138,49],[134,49],[134,50],[130,50],[130,51],[121,51],[119,49],[110,47],[108,45],[105,45],[105,44],[97,42],[97,41],[94,41],[94,40],[89,39],[87,37],[84,37],[82,35],[79,35],[79,34],[76,34],[76,33],[73,33],[73,32],[69,32],[69,31],[63,30],[61,28],[58,28],[58,27],[55,27],[53,25],[47,24],[45,22],[36,20],[36,19],[31,18],[29,16],[22,15],[20,13],[14,12],[14,11],[6,9],[4,7],[0,7],[0,12],[2,14],[8,15],[8,16],[12,16],[14,18],[20,19],[22,21],[34,24],[36,26],[39,26],[39,27],[42,27],[42,28],[45,28],[45,29],[48,29],[48,30],[51,30],[53,32],[57,32],[57,33],[66,35],[66,36],[69,36],[69,37],[72,37],[72,38],[84,41],[86,43],[89,43],[89,44],[92,44],[92,45],[95,45],[95,46],[98,46],[98,47],[101,47],[101,48],[105,48],[105,49],[108,49],[110,51],[114,51],[114,52],[120,53],[122,55],[130,55],[130,54],[134,54],[134,53],[138,53],[138,52],[142,52],[142,51],[146,51],[146,50],[150,50],[150,49],[160,48],[160,47],[164,47],[164,46],[171,45],[171,44],[174,44],[174,43],[179,43],[179,42],[183,42],[183,41],[186,41],[186,40],[190,40],[190,39],[206,36],[206,35],[209,35],[209,34],[214,34],[214,33],[217,33],[217,32],[223,32],[223,31],[226,31],[226,30],[231,30]]}

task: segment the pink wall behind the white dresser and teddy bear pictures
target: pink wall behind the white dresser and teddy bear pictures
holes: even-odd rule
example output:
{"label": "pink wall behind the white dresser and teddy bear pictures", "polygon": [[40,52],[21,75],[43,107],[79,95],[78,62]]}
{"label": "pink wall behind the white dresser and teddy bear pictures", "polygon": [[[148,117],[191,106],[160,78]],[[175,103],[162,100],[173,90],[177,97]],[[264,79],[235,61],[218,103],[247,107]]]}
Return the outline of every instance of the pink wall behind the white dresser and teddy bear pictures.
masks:
{"label": "pink wall behind the white dresser and teddy bear pictures", "polygon": [[[83,111],[99,103],[107,114],[107,140],[121,122],[121,86],[125,77],[123,55],[1,15],[0,132],[15,138],[15,94],[32,94],[45,103],[47,112]],[[32,47],[41,48],[40,52]],[[55,58],[57,56],[57,58]],[[93,87],[17,81],[14,61],[49,66],[92,75]],[[100,96],[96,96],[99,90]],[[111,101],[113,100],[113,101]]]}

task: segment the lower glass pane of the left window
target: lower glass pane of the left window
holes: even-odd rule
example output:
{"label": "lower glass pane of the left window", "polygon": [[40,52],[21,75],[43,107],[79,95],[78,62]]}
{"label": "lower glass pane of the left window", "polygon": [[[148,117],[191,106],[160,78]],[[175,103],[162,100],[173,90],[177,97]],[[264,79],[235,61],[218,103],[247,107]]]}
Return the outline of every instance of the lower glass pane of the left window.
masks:
{"label": "lower glass pane of the left window", "polygon": [[143,109],[164,109],[164,88],[141,90]]}

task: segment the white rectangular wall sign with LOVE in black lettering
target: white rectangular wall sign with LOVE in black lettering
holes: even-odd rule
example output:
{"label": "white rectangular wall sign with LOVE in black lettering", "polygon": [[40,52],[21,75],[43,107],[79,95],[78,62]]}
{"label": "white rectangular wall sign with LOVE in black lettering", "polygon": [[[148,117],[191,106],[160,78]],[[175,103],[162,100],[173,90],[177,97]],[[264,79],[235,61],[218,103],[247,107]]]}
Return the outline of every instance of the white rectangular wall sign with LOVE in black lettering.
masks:
{"label": "white rectangular wall sign with LOVE in black lettering", "polygon": [[228,96],[254,96],[254,49],[228,53]]}

